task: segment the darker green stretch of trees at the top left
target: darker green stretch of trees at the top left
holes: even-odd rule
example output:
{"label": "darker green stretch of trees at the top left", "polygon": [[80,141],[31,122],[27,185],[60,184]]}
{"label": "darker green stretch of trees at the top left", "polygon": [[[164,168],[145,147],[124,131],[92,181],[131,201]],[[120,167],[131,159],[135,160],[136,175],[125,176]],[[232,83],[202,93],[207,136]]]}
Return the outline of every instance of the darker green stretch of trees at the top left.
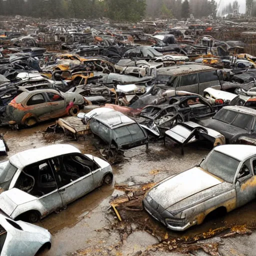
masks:
{"label": "darker green stretch of trees at the top left", "polygon": [[145,0],[0,0],[0,14],[47,18],[99,18],[138,21]]}

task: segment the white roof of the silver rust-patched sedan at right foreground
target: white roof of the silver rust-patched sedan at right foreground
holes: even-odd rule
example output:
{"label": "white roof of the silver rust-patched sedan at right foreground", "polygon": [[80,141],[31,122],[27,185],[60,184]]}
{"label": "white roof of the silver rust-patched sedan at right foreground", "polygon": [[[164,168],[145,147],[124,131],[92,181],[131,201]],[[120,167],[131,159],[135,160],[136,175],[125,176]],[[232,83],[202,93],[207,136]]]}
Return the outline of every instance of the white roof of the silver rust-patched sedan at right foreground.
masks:
{"label": "white roof of the silver rust-patched sedan at right foreground", "polygon": [[238,161],[256,155],[256,146],[253,145],[221,145],[214,148],[215,151],[231,156]]}

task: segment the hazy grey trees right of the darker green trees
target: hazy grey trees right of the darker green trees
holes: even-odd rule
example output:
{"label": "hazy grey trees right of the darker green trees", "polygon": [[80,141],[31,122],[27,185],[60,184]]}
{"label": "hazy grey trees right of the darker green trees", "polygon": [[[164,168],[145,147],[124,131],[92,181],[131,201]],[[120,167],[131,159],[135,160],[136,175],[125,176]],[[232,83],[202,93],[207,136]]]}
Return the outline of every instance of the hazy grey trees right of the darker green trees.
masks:
{"label": "hazy grey trees right of the darker green trees", "polygon": [[147,15],[161,18],[215,17],[217,11],[215,0],[146,0],[146,5]]}

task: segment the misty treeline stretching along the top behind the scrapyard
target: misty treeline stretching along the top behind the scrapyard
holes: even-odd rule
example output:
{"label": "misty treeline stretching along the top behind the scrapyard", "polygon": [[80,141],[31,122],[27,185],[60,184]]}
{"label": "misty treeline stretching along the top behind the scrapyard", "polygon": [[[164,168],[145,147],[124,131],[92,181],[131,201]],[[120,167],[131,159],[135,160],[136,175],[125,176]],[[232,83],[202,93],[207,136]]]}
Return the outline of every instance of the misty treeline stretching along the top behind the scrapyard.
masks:
{"label": "misty treeline stretching along the top behind the scrapyard", "polygon": [[136,22],[143,17],[180,19],[190,14],[215,17],[216,11],[215,0],[0,0],[0,14],[46,18],[108,17]]}

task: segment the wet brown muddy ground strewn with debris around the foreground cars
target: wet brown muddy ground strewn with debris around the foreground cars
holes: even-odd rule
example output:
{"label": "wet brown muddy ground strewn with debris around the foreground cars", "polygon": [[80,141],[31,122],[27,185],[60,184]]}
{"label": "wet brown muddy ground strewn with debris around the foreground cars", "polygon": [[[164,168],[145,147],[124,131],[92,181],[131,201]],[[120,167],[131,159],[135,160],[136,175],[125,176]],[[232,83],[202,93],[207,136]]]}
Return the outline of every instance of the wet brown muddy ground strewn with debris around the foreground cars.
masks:
{"label": "wet brown muddy ground strewn with debris around the foreground cars", "polygon": [[[100,156],[101,144],[88,135],[78,141],[62,134],[45,133],[50,123],[11,131],[1,128],[8,155],[52,143],[68,143],[83,153]],[[171,232],[141,210],[117,207],[120,222],[109,201],[134,184],[157,182],[200,162],[209,150],[190,145],[181,156],[178,149],[151,143],[149,152],[139,147],[125,152],[122,162],[112,165],[114,184],[104,186],[52,213],[39,223],[52,234],[52,247],[41,256],[63,255],[256,255],[256,200],[224,216],[207,219],[185,232]],[[6,157],[0,156],[0,161]],[[124,186],[123,186],[124,185]],[[128,185],[128,186],[127,186]]]}

